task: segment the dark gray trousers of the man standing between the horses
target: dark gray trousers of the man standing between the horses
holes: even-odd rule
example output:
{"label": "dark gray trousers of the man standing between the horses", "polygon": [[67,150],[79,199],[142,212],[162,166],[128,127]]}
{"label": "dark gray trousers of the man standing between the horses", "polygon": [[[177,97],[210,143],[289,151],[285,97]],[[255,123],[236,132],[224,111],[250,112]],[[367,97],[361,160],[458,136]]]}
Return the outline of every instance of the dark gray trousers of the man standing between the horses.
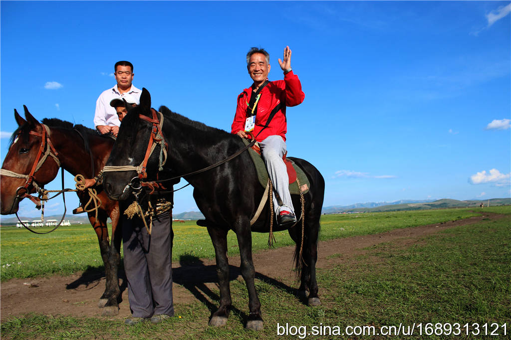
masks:
{"label": "dark gray trousers of the man standing between the horses", "polygon": [[123,221],[128,300],[136,318],[174,315],[172,301],[172,210],[153,217],[151,235],[140,218]]}

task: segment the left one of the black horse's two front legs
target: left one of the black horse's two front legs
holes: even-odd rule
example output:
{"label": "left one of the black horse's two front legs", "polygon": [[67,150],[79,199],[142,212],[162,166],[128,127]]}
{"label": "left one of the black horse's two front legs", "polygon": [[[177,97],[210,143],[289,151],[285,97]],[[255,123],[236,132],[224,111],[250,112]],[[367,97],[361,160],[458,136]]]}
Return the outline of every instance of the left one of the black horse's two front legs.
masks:
{"label": "left one of the black horse's two front legs", "polygon": [[227,259],[227,230],[208,225],[207,232],[210,234],[213,247],[215,248],[218,283],[220,286],[220,306],[213,313],[209,325],[222,327],[227,324],[227,317],[232,304],[229,287],[229,263]]}

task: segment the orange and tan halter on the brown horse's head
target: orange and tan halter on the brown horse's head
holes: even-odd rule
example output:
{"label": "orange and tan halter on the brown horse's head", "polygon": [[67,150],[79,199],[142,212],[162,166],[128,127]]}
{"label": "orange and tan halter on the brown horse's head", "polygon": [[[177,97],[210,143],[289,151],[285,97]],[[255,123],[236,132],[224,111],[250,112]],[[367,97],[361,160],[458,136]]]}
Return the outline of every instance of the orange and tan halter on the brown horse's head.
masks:
{"label": "orange and tan halter on the brown horse's head", "polygon": [[[36,190],[40,190],[40,187],[37,185],[37,182],[35,181],[34,174],[39,170],[39,168],[42,166],[42,164],[46,161],[48,156],[51,156],[53,160],[57,163],[57,166],[60,167],[60,161],[58,159],[58,152],[55,150],[52,141],[50,139],[50,129],[48,126],[41,124],[43,127],[42,133],[38,133],[35,131],[30,131],[29,134],[37,137],[41,137],[41,145],[39,145],[39,150],[37,152],[37,156],[34,160],[34,164],[32,164],[32,168],[30,170],[30,173],[28,175],[24,174],[18,174],[13,171],[7,170],[7,169],[0,169],[0,175],[8,176],[8,177],[15,177],[15,178],[25,178],[25,184],[18,187],[16,189],[16,196],[18,198],[28,198],[32,202],[34,202],[36,205],[40,200],[36,197],[33,197],[28,194],[29,186],[30,184],[33,184],[33,186],[36,188]],[[18,133],[18,135],[21,133],[21,131]],[[53,153],[52,153],[53,152]],[[20,191],[24,191],[22,194]]]}

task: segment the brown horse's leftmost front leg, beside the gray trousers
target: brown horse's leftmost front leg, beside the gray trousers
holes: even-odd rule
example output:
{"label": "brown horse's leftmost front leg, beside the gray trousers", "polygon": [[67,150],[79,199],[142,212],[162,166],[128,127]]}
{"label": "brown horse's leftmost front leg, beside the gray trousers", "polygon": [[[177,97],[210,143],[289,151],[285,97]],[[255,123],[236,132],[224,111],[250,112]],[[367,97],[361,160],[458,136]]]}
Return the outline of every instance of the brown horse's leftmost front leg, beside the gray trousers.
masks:
{"label": "brown horse's leftmost front leg, beside the gray trousers", "polygon": [[[92,225],[92,228],[94,228],[94,231],[96,231],[96,234],[98,235],[98,241],[99,241],[99,248],[101,251],[101,257],[103,259],[103,263],[105,266],[105,292],[101,296],[98,307],[104,308],[108,307],[106,309],[107,315],[115,315],[119,313],[119,304],[117,302],[117,296],[115,299],[112,299],[112,266],[111,262],[109,260],[110,258],[110,242],[108,239],[108,226],[106,223],[107,215],[104,210],[98,211],[98,219],[96,219],[94,211],[88,212],[88,217],[90,224]],[[116,269],[117,273],[117,269]],[[117,275],[117,274],[116,274]],[[119,289],[119,281],[116,281],[115,284],[117,285],[117,289]]]}

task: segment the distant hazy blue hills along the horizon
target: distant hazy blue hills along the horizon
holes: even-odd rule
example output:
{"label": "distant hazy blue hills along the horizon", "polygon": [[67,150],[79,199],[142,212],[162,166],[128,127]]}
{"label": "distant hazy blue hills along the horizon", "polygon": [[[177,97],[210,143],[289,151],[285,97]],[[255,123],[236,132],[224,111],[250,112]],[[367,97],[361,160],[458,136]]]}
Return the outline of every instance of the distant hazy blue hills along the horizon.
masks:
{"label": "distant hazy blue hills along the horizon", "polygon": [[[343,212],[378,212],[378,211],[398,211],[398,210],[426,210],[426,209],[437,209],[437,208],[458,208],[458,207],[479,207],[488,203],[490,206],[499,205],[511,205],[511,198],[501,199],[490,199],[490,200],[467,200],[458,201],[450,199],[442,200],[425,200],[425,201],[412,201],[412,200],[400,200],[396,202],[367,202],[367,203],[356,203],[352,205],[340,206],[334,205],[329,207],[323,207],[323,214],[335,214]],[[0,217],[2,225],[12,225],[18,222],[16,216],[14,217]],[[62,215],[50,215],[44,216],[44,220],[57,220],[60,221]],[[178,214],[173,214],[174,220],[200,220],[204,218],[204,215],[198,211],[185,211]],[[38,220],[38,217],[23,217],[20,216],[20,220]],[[69,220],[71,224],[88,224],[89,220],[85,214],[73,215],[67,214],[65,220]]]}

